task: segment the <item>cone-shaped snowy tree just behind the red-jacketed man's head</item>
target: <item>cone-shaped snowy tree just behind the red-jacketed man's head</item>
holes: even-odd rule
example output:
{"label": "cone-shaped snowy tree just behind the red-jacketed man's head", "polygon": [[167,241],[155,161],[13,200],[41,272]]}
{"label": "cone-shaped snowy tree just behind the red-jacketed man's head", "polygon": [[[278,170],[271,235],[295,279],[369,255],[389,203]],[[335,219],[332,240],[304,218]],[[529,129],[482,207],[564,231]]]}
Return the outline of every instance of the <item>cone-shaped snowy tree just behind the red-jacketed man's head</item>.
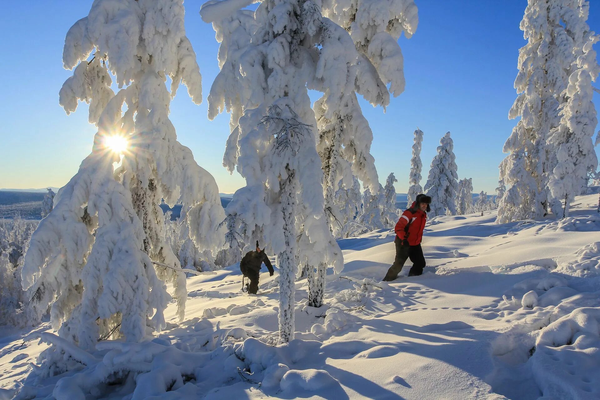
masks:
{"label": "cone-shaped snowy tree just behind the red-jacketed man's head", "polygon": [[431,197],[431,217],[446,213],[456,215],[458,167],[455,160],[454,143],[448,132],[440,139],[424,188],[427,196]]}

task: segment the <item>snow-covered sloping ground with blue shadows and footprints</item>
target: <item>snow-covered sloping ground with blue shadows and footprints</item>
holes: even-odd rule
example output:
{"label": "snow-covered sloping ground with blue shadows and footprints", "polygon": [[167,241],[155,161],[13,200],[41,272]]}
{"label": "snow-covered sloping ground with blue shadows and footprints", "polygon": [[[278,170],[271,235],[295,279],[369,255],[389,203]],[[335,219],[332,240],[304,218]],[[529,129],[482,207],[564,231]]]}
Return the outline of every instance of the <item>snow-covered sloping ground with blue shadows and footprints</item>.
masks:
{"label": "snow-covered sloping ground with blue shadows and footprints", "polygon": [[345,267],[328,275],[325,306],[305,305],[306,281],[296,282],[287,345],[273,345],[277,267],[256,296],[241,292],[238,265],[189,278],[185,321],[173,302],[169,330],[152,341],[103,342],[94,354],[59,345],[79,361],[68,377],[26,378],[48,324],[5,328],[0,399],[21,384],[18,398],[598,399],[597,204],[598,194],[578,197],[562,221],[438,216],[425,230],[425,273],[391,284],[379,281],[393,231],[340,240]]}

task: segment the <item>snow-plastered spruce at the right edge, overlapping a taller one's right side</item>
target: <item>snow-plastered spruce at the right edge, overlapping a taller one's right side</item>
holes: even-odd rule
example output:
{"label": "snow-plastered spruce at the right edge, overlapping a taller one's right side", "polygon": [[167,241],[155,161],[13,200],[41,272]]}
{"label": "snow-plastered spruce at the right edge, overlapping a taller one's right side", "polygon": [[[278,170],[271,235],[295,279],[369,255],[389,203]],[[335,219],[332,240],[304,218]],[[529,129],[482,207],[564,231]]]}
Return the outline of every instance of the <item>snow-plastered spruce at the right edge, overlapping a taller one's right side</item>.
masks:
{"label": "snow-plastered spruce at the right edge, overlapping a taller one's right side", "polygon": [[[562,217],[569,215],[569,207],[575,196],[585,194],[588,176],[595,173],[598,166],[592,143],[598,125],[592,82],[598,78],[600,67],[592,46],[600,37],[590,32],[587,25],[589,4],[582,2],[579,10],[580,23],[576,25],[578,29],[575,33],[581,41],[576,43],[575,49],[581,54],[575,62],[575,70],[569,76],[566,103],[560,106],[560,125],[548,137],[548,142],[556,149],[557,158],[548,187],[556,200],[563,201],[562,207],[559,201],[553,201],[552,212]],[[599,140],[600,136],[596,137],[596,144]]]}

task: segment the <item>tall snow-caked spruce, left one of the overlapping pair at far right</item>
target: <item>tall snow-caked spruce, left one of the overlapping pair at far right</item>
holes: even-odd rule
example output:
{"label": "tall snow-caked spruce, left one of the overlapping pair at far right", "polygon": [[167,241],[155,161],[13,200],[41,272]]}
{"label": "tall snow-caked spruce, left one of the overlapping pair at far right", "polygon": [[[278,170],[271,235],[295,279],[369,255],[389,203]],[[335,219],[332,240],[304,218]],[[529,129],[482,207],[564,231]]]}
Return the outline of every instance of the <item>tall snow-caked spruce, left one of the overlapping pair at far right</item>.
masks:
{"label": "tall snow-caked spruce, left one of the overlapping pair at far right", "polygon": [[499,201],[498,223],[539,218],[554,201],[548,188],[556,165],[556,146],[550,130],[560,124],[559,106],[565,101],[577,45],[580,10],[585,0],[529,0],[520,28],[527,44],[519,50],[515,79],[517,99],[509,118],[520,118],[503,152],[500,165],[506,196]]}

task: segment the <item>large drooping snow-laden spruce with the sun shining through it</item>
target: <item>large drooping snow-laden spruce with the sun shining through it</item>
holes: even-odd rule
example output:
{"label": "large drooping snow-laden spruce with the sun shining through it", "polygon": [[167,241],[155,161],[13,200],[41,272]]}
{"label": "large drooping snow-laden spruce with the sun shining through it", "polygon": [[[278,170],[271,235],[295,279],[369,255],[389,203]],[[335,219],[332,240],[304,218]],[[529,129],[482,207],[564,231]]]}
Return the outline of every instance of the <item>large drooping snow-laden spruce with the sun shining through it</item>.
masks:
{"label": "large drooping snow-laden spruce with the sun shining through it", "polygon": [[[185,218],[199,249],[215,251],[222,240],[217,184],[177,142],[169,121],[180,82],[194,103],[202,99],[182,1],[95,1],[68,31],[63,61],[76,68],[61,104],[69,113],[78,100],[89,102],[98,132],[31,238],[23,287],[37,293],[41,306],[52,304],[52,326],[81,348],[101,338],[139,341],[148,326],[166,326],[167,281],[184,317],[185,275],[164,240],[161,199],[190,207]],[[108,146],[113,136],[128,142],[122,154]],[[116,170],[114,162],[121,163]],[[59,352],[46,356],[63,368]]]}

